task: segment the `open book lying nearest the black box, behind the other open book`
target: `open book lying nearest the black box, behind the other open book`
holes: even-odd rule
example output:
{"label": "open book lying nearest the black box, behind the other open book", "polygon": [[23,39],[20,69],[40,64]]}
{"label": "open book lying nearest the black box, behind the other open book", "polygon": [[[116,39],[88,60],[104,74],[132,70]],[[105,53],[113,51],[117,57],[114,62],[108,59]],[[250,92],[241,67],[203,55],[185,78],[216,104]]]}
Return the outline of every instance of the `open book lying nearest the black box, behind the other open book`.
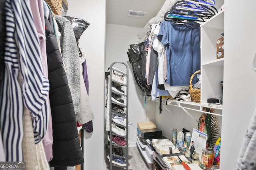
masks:
{"label": "open book lying nearest the black box, behind the other open book", "polygon": [[170,150],[172,150],[171,153],[180,152],[178,149],[175,149],[175,146],[169,139],[152,139],[151,143],[158,154],[170,154]]}

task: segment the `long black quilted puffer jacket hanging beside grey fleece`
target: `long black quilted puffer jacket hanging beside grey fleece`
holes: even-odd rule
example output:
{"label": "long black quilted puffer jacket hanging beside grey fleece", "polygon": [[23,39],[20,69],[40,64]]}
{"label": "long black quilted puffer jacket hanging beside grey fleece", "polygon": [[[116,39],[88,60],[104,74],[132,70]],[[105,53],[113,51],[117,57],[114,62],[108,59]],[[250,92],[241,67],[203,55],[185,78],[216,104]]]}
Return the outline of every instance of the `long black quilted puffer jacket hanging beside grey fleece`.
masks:
{"label": "long black quilted puffer jacket hanging beside grey fleece", "polygon": [[84,162],[76,115],[58,43],[52,25],[46,18],[45,25],[53,131],[53,158],[50,166],[75,166]]}

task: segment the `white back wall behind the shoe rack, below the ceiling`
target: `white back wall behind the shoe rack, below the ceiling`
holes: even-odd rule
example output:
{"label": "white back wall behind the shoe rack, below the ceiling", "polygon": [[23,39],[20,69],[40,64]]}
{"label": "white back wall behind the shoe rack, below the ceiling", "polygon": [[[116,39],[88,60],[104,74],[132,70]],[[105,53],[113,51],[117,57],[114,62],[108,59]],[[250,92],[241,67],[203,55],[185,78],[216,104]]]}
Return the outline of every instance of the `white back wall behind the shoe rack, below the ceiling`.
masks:
{"label": "white back wall behind the shoe rack, below the ceiling", "polygon": [[[110,67],[111,63],[121,61],[128,65],[128,121],[132,122],[133,125],[129,127],[129,141],[130,146],[136,146],[136,129],[137,122],[139,121],[153,121],[155,120],[154,115],[154,102],[147,102],[144,107],[144,100],[140,97],[141,90],[135,83],[132,65],[129,63],[127,51],[130,48],[130,44],[137,44],[137,34],[142,30],[139,27],[130,27],[124,25],[107,24],[106,28],[106,70]],[[118,66],[118,65],[115,65]],[[126,70],[121,66],[118,68],[124,72]],[[105,132],[106,133],[106,132]]]}

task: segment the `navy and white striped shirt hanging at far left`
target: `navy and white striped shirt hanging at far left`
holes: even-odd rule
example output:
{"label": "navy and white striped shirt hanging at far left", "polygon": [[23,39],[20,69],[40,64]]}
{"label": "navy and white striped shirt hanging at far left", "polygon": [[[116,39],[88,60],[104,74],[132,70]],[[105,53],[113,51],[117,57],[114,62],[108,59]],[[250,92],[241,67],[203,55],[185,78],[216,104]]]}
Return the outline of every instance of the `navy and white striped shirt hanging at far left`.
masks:
{"label": "navy and white striped shirt hanging at far left", "polygon": [[[5,72],[0,99],[0,129],[7,161],[22,161],[23,106],[31,111],[35,143],[48,127],[48,79],[28,0],[6,0]],[[22,88],[18,83],[20,72]]]}

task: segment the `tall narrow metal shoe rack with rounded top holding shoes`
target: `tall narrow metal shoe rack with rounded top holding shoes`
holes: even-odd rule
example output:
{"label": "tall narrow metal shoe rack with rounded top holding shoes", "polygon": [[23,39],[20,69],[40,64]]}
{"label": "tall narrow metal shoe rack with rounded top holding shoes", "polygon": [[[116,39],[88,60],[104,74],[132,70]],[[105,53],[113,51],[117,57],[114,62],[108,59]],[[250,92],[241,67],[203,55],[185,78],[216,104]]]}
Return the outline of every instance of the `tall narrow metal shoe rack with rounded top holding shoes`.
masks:
{"label": "tall narrow metal shoe rack with rounded top holding shoes", "polygon": [[[122,72],[116,68],[113,68],[114,64],[124,64],[124,66],[126,67],[126,72]],[[117,82],[115,80],[112,80],[112,72],[115,71],[115,72],[118,72],[120,74],[122,74],[124,77],[126,77],[126,81],[124,81],[124,84],[120,83],[120,82]],[[109,132],[109,138],[110,138],[110,154],[109,154],[109,160],[110,160],[110,170],[112,170],[112,166],[117,166],[117,167],[120,167],[120,168],[124,168],[124,169],[127,169],[128,170],[128,66],[126,63],[123,63],[123,62],[114,62],[110,65],[110,75],[109,75],[109,81],[110,81],[110,85],[109,85],[109,124],[110,124],[110,132]],[[123,85],[125,87],[125,92],[124,94],[121,94],[121,93],[118,93],[116,91],[113,91],[112,90],[112,82],[116,82],[120,85]],[[112,92],[116,93],[116,94],[119,94],[121,96],[124,96],[124,98],[126,98],[126,100],[124,100],[124,105],[121,105],[121,104],[118,104],[114,101],[112,101]],[[119,106],[122,106],[124,107],[124,113],[126,113],[126,115],[122,115],[114,110],[112,110],[112,104],[116,104],[116,105],[119,105]],[[117,124],[117,123],[114,123],[112,121],[112,114],[114,115],[118,115],[120,117],[124,117],[126,118],[126,126],[124,125],[120,125],[120,124]],[[126,129],[126,136],[124,137],[124,139],[126,140],[126,146],[120,146],[120,145],[116,145],[115,143],[112,143],[112,135],[116,135],[116,136],[119,136],[119,137],[123,137],[123,136],[120,136],[114,132],[112,132],[112,123],[114,123],[115,125],[118,125],[119,127],[124,127]],[[117,150],[121,150],[121,152],[119,152],[118,154],[115,152]],[[117,156],[117,157],[120,157],[124,160],[126,160],[126,166],[119,166],[117,164],[114,164],[112,163],[112,156]]]}

